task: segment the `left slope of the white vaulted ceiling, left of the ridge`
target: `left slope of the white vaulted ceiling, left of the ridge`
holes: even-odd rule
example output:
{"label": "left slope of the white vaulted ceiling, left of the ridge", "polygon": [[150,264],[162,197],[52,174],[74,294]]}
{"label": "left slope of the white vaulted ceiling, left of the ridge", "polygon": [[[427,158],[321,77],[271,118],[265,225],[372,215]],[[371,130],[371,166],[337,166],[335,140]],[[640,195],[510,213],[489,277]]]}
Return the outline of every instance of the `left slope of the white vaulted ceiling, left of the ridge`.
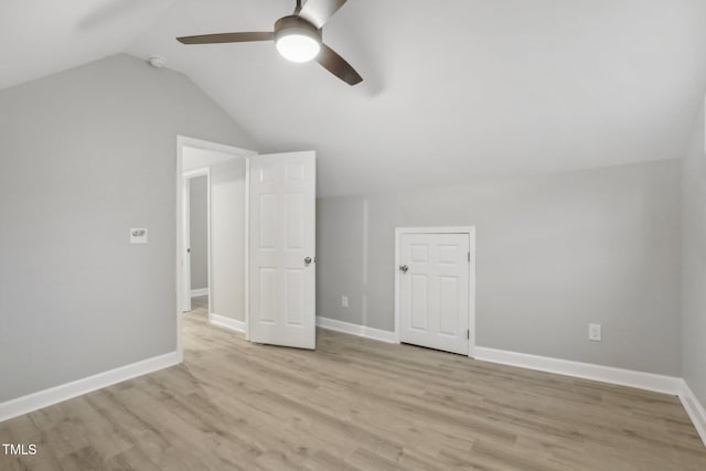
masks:
{"label": "left slope of the white vaulted ceiling, left of the ridge", "polygon": [[0,0],[0,89],[122,52],[174,0]]}

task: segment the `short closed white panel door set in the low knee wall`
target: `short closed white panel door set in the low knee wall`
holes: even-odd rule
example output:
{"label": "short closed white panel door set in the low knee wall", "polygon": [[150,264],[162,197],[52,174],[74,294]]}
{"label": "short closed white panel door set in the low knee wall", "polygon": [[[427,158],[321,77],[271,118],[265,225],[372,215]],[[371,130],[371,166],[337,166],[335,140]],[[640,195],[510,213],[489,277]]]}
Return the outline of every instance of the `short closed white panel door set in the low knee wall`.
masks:
{"label": "short closed white panel door set in the low knee wall", "polygon": [[400,236],[400,341],[469,353],[468,234]]}

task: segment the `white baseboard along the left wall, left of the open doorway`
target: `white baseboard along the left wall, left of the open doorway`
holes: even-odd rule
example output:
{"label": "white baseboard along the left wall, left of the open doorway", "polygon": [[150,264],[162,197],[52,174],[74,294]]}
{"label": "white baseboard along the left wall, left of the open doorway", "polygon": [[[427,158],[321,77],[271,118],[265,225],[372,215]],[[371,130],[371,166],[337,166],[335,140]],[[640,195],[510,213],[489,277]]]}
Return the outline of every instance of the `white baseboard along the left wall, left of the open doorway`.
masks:
{"label": "white baseboard along the left wall, left of the open doorway", "polygon": [[1,403],[0,422],[181,362],[181,354],[171,352]]}

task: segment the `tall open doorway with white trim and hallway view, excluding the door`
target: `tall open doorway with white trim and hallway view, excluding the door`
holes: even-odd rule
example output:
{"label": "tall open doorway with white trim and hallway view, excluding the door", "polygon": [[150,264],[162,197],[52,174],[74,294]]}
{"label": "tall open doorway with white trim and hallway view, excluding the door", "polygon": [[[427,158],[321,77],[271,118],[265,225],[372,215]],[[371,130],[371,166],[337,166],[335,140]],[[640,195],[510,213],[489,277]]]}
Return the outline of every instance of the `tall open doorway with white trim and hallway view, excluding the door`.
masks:
{"label": "tall open doorway with white trim and hallway view, excluding the door", "polygon": [[[190,313],[247,339],[246,176],[255,152],[181,136],[176,144],[176,344],[182,352],[182,322]],[[199,231],[195,220],[203,224],[204,216],[193,212],[203,208],[204,199],[205,231]]]}

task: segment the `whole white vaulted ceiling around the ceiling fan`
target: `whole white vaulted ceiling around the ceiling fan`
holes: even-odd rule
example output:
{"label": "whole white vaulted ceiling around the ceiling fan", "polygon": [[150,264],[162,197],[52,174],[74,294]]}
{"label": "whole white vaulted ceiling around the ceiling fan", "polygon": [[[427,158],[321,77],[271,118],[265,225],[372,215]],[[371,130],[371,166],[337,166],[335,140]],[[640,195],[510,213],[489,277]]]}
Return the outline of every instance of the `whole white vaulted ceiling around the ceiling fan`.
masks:
{"label": "whole white vaulted ceiling around the ceiling fan", "polygon": [[264,150],[319,151],[322,195],[682,157],[706,88],[704,0],[349,0],[349,87],[271,43],[293,0],[3,0],[0,88],[125,51],[167,56]]}

